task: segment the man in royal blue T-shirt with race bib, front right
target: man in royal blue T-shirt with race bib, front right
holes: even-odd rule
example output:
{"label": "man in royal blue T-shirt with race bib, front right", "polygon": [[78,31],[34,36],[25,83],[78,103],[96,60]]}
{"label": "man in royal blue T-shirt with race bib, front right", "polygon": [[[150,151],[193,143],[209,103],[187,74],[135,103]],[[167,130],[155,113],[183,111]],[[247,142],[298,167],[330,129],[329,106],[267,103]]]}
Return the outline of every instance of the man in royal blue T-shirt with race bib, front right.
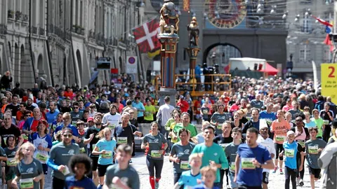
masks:
{"label": "man in royal blue T-shirt with race bib, front right", "polygon": [[246,133],[246,144],[240,144],[237,148],[234,182],[238,188],[261,188],[263,169],[275,167],[267,148],[258,145],[257,139],[258,130],[251,127]]}

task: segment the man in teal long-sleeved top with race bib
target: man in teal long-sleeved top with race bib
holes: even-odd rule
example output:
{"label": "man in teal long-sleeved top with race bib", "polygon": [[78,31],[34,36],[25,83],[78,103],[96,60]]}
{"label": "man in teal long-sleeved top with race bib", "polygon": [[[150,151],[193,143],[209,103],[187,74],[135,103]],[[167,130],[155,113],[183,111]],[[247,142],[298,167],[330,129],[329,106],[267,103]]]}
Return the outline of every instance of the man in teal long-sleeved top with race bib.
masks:
{"label": "man in teal long-sleeved top with race bib", "polygon": [[204,129],[205,142],[202,144],[197,144],[194,147],[192,154],[204,153],[201,167],[206,167],[208,165],[217,167],[216,183],[214,183],[214,186],[223,188],[223,186],[220,184],[220,169],[228,169],[228,162],[223,148],[218,144],[213,143],[214,132],[214,127],[211,125],[206,127]]}

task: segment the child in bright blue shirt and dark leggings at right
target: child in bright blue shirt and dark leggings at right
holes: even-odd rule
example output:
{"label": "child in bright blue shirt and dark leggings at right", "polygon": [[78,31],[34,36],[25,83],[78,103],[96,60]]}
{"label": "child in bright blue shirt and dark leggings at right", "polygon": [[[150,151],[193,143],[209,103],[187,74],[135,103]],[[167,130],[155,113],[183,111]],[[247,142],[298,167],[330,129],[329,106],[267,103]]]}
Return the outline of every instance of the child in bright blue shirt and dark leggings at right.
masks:
{"label": "child in bright blue shirt and dark leggings at right", "polygon": [[296,141],[293,141],[293,139],[295,139],[295,133],[293,131],[289,131],[286,133],[286,139],[287,141],[285,141],[283,144],[284,151],[279,154],[279,156],[286,156],[284,161],[284,172],[286,173],[286,182],[284,183],[284,188],[289,189],[289,184],[291,180],[292,188],[296,189],[297,172],[302,171],[303,169],[304,154],[300,155],[300,162],[298,165],[297,155],[298,152],[302,151],[302,146],[300,146],[300,144],[298,144]]}

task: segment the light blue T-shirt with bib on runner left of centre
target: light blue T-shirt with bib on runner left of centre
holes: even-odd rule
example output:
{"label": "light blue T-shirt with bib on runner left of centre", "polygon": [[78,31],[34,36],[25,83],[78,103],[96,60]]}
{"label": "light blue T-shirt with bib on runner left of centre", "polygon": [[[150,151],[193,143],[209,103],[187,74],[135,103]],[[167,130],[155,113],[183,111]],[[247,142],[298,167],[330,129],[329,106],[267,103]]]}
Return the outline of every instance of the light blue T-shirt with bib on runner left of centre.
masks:
{"label": "light blue T-shirt with bib on runner left of centre", "polygon": [[107,141],[106,139],[100,139],[96,144],[98,151],[105,150],[105,154],[100,154],[98,158],[99,165],[110,165],[114,159],[114,148],[116,148],[116,141]]}

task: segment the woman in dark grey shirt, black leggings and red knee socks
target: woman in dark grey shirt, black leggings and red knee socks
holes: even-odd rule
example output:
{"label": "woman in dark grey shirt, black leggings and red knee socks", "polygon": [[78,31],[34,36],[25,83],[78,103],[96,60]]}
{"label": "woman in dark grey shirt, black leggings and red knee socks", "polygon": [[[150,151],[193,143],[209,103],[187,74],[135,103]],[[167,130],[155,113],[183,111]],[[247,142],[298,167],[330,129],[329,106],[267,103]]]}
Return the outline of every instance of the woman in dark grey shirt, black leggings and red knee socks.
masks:
{"label": "woman in dark grey shirt, black leggings and red knee socks", "polygon": [[[159,188],[159,180],[161,179],[161,169],[164,165],[164,153],[168,147],[167,141],[163,134],[159,133],[159,124],[157,122],[151,123],[151,133],[146,134],[143,138],[142,149],[148,148],[146,165],[150,173],[151,188]],[[183,136],[185,137],[185,136]],[[156,170],[156,177],[154,179],[154,169]]]}

